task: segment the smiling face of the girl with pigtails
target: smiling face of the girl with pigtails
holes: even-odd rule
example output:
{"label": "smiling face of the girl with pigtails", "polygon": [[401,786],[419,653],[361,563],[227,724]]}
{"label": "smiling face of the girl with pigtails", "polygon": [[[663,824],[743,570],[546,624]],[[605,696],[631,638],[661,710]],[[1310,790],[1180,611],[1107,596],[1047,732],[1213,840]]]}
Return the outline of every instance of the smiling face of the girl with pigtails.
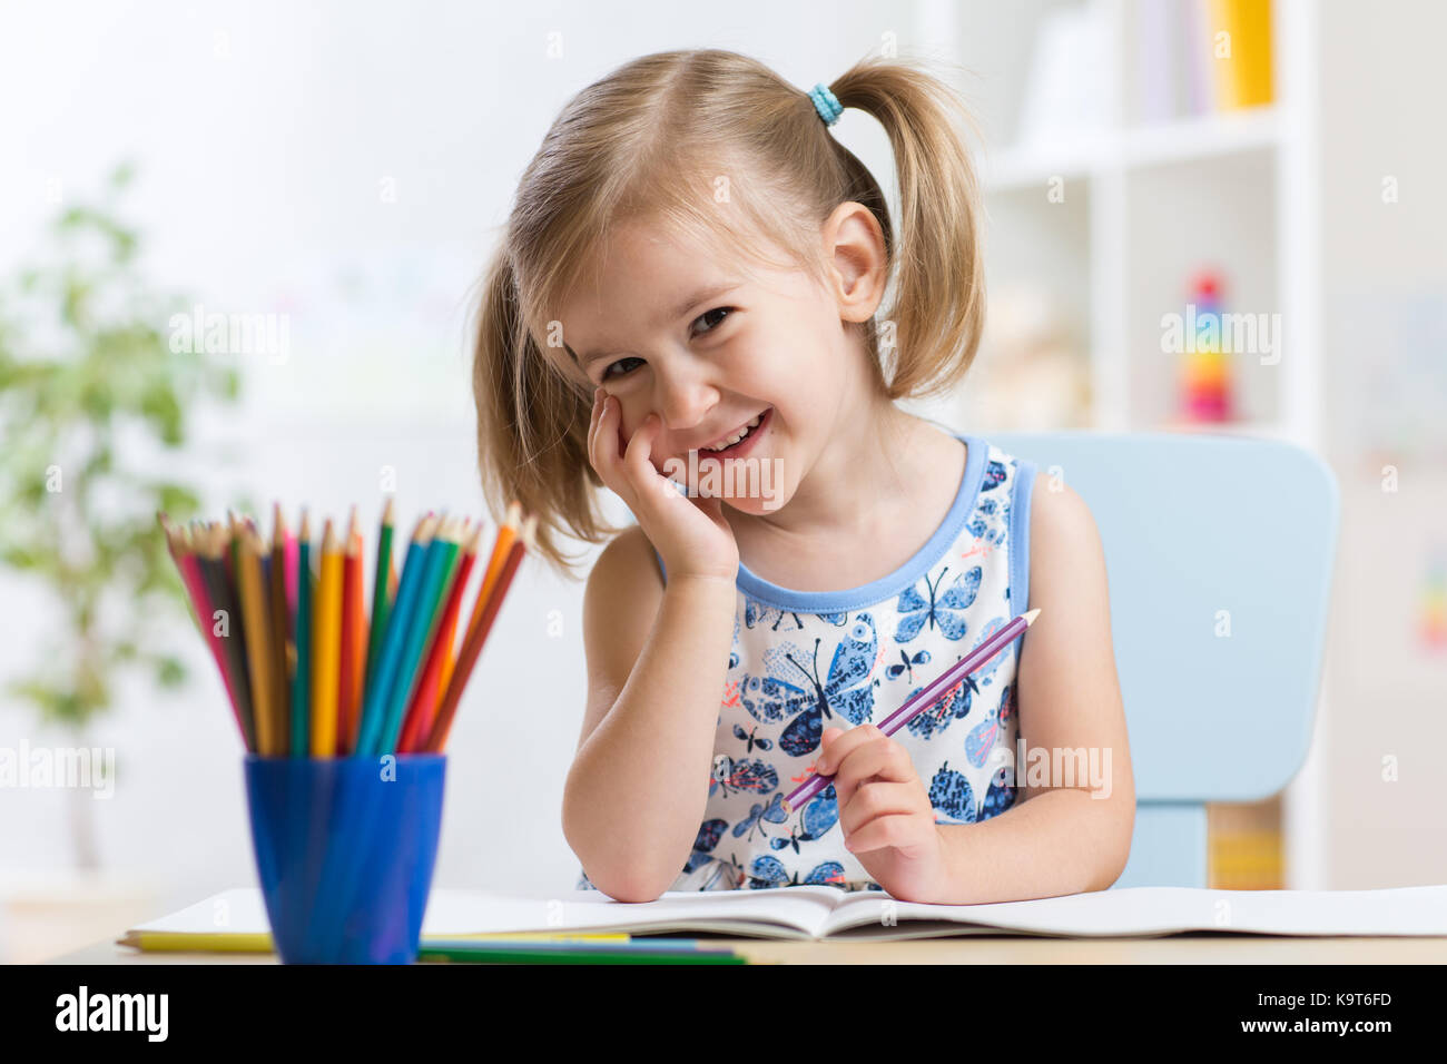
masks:
{"label": "smiling face of the girl with pigtails", "polygon": [[781,507],[825,440],[862,415],[854,398],[862,365],[839,300],[803,271],[755,266],[745,275],[637,224],[616,232],[605,263],[598,287],[580,287],[564,304],[563,342],[589,382],[621,404],[622,442],[657,414],[654,469],[693,485],[719,463],[709,444],[765,415],[758,437],[729,460],[758,470],[767,462],[768,479],[719,478],[721,494],[751,514]]}

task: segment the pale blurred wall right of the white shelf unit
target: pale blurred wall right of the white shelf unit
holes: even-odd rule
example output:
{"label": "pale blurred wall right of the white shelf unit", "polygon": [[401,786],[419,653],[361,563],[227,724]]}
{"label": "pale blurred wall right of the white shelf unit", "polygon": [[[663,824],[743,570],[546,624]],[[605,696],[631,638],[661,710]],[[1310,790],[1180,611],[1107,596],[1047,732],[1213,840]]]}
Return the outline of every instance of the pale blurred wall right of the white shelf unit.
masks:
{"label": "pale blurred wall right of the white shelf unit", "polygon": [[[1343,510],[1325,763],[1337,889],[1447,882],[1447,654],[1414,624],[1425,559],[1447,565],[1444,36],[1435,3],[1323,7],[1325,426]],[[1388,446],[1359,450],[1363,436]],[[1383,491],[1388,466],[1396,491]]]}

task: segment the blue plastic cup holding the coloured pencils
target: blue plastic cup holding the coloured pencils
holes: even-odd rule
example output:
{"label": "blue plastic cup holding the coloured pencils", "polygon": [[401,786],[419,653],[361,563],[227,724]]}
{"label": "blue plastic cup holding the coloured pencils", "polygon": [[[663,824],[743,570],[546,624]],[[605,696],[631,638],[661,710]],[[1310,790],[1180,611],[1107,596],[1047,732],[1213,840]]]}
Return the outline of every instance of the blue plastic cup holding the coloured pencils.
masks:
{"label": "blue plastic cup holding the coloured pencils", "polygon": [[444,754],[246,756],[246,803],[282,964],[417,960]]}

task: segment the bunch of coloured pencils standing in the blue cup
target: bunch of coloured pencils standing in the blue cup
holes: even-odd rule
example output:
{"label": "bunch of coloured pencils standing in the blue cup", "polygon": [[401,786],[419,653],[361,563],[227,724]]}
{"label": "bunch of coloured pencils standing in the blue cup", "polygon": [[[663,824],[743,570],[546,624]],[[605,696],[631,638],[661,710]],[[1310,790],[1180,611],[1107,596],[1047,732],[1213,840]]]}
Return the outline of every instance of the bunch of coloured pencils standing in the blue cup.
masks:
{"label": "bunch of coloured pencils standing in the blue cup", "polygon": [[242,741],[260,757],[443,753],[537,530],[537,517],[508,507],[463,622],[480,523],[428,511],[396,576],[388,499],[368,605],[356,507],[344,530],[323,523],[320,544],[307,511],[292,536],[279,504],[269,543],[246,515],[156,520]]}

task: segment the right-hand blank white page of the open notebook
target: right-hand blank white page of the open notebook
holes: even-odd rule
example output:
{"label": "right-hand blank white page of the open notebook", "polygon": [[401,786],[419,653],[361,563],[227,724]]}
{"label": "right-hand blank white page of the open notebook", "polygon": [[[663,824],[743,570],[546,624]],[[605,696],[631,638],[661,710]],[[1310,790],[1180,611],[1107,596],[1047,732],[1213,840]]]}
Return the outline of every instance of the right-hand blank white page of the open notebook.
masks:
{"label": "right-hand blank white page of the open notebook", "polygon": [[[888,899],[893,900],[893,899]],[[1120,887],[1062,898],[985,905],[922,905],[846,898],[829,918],[831,932],[888,928],[909,935],[907,921],[958,921],[1004,931],[1081,938],[1239,931],[1268,935],[1447,935],[1447,884],[1382,890],[1208,890]],[[886,937],[880,931],[871,937]]]}

